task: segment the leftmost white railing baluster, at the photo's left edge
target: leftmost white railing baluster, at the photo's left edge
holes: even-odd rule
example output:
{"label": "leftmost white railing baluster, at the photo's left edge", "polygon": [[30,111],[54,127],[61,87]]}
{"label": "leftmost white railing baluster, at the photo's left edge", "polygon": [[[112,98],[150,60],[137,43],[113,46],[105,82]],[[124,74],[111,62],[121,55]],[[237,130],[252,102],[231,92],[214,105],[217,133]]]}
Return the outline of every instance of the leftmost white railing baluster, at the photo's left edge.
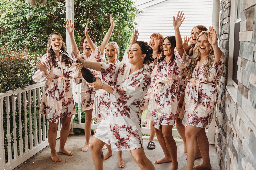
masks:
{"label": "leftmost white railing baluster, at the photo's left edge", "polygon": [[[4,115],[4,102],[3,102],[3,98],[0,99],[0,117],[1,117],[1,122],[0,122],[0,125],[1,125],[1,138],[0,138],[0,141],[1,141],[1,160],[0,160],[0,168],[4,167],[5,166],[5,149],[4,149],[4,124],[3,124],[3,121],[4,121],[4,118],[3,118],[3,115]],[[2,168],[3,169],[3,168]]]}

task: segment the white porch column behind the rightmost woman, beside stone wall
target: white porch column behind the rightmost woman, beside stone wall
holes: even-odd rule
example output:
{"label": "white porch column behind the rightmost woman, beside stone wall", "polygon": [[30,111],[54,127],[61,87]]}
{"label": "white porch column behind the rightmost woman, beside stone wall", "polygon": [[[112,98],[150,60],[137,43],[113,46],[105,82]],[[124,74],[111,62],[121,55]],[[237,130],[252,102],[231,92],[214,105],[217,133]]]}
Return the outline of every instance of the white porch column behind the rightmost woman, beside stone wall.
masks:
{"label": "white porch column behind the rightmost woman, beside stone wall", "polygon": [[[214,0],[212,6],[212,27],[216,30],[217,37],[219,37],[219,18],[220,18],[220,1]],[[217,106],[218,109],[218,106]],[[214,112],[212,122],[208,128],[209,144],[215,143],[215,120],[216,112]]]}

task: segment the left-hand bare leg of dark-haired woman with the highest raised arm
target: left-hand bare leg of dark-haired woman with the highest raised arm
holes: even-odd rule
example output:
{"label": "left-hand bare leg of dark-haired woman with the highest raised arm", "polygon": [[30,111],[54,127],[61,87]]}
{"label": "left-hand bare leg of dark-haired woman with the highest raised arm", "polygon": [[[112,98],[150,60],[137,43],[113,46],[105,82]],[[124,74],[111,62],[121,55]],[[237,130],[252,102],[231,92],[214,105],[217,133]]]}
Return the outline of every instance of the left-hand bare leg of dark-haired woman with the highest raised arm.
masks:
{"label": "left-hand bare leg of dark-haired woman with the highest raised arm", "polygon": [[172,157],[171,157],[168,149],[166,148],[166,144],[165,144],[165,140],[164,140],[162,129],[157,130],[154,127],[154,130],[155,130],[155,133],[156,133],[157,140],[158,140],[158,142],[159,142],[159,144],[162,147],[163,152],[164,152],[164,158],[156,160],[154,162],[154,164],[161,164],[161,163],[166,163],[166,162],[172,162]]}

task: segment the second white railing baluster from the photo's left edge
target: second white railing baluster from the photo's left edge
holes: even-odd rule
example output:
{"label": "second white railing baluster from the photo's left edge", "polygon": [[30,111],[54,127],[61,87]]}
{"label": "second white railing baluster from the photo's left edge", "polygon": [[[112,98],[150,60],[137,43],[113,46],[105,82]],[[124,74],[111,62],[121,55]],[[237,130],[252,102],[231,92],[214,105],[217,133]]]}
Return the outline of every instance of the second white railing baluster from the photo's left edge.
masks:
{"label": "second white railing baluster from the photo's left edge", "polygon": [[6,106],[6,118],[7,118],[7,157],[8,162],[12,161],[12,146],[11,146],[11,132],[10,132],[10,101],[9,96],[5,97],[5,106]]}

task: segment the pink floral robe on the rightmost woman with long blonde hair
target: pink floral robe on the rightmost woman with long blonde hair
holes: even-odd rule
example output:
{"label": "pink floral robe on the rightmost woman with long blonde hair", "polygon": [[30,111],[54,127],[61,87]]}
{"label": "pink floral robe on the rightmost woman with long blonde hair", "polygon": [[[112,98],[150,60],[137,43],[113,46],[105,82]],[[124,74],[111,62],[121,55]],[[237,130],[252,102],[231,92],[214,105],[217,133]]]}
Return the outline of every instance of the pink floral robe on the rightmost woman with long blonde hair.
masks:
{"label": "pink floral robe on the rightmost woman with long blonde hair", "polygon": [[223,73],[223,68],[226,62],[224,54],[220,57],[218,63],[215,60],[212,67],[209,69],[210,76],[206,80],[203,76],[205,73],[204,65],[199,68],[199,61],[192,73],[193,78],[189,80],[185,90],[184,98],[184,116],[182,124],[208,128],[215,112],[215,107],[218,99],[218,82]]}

